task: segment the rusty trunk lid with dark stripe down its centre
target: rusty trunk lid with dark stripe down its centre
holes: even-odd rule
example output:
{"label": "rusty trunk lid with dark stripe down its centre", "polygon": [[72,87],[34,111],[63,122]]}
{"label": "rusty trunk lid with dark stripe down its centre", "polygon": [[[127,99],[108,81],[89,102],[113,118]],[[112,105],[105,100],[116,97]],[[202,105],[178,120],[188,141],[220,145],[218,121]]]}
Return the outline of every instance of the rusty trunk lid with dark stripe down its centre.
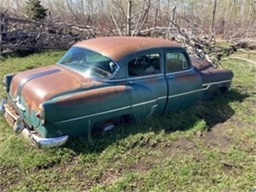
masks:
{"label": "rusty trunk lid with dark stripe down its centre", "polygon": [[10,95],[13,99],[20,97],[32,112],[38,110],[42,102],[80,89],[83,79],[83,76],[62,67],[41,67],[17,73],[12,80]]}

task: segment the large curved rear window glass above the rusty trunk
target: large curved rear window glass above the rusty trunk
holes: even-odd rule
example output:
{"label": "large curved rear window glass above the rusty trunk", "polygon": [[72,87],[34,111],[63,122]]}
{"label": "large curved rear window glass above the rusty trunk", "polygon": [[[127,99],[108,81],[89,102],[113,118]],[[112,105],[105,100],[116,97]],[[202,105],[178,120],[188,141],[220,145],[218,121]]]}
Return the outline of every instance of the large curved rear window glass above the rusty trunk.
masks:
{"label": "large curved rear window glass above the rusty trunk", "polygon": [[83,73],[86,77],[103,79],[112,77],[118,69],[108,57],[79,47],[69,49],[58,64]]}

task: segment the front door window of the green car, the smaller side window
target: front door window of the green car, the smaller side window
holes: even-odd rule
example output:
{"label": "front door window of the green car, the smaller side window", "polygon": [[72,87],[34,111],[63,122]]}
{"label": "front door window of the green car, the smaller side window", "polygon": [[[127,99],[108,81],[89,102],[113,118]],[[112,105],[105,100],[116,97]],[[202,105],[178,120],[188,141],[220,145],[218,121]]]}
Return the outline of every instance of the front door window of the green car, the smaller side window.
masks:
{"label": "front door window of the green car, the smaller side window", "polygon": [[189,68],[189,62],[182,52],[166,53],[167,73],[174,73]]}

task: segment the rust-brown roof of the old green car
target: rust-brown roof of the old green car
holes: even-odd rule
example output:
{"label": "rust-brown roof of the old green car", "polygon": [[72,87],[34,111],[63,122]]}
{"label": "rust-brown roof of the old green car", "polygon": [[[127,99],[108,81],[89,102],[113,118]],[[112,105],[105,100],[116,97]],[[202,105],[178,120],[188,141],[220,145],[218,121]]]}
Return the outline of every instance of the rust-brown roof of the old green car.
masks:
{"label": "rust-brown roof of the old green car", "polygon": [[81,41],[73,46],[94,50],[102,55],[112,58],[115,61],[120,61],[126,55],[131,55],[146,49],[182,47],[176,42],[163,38],[143,37],[91,38],[89,40]]}

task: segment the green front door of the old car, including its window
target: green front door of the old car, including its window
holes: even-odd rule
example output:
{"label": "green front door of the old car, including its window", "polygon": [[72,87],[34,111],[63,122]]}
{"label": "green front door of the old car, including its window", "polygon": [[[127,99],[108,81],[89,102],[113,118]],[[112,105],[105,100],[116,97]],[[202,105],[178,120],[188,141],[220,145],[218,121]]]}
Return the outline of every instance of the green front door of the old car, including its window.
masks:
{"label": "green front door of the old car, including its window", "polygon": [[188,108],[202,98],[201,77],[184,49],[165,51],[168,101],[166,111]]}

